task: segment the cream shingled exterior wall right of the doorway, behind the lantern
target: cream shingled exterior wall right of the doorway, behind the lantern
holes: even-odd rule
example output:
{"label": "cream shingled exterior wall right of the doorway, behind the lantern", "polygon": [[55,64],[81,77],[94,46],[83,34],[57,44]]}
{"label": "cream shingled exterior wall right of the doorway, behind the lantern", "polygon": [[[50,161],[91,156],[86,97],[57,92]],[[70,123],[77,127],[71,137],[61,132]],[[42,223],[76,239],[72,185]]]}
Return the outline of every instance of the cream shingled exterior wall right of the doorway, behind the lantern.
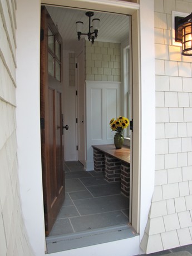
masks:
{"label": "cream shingled exterior wall right of the doorway, behind the lantern", "polygon": [[190,13],[192,2],[155,0],[154,10],[155,189],[141,242],[147,253],[192,243],[192,60],[171,42],[171,12]]}

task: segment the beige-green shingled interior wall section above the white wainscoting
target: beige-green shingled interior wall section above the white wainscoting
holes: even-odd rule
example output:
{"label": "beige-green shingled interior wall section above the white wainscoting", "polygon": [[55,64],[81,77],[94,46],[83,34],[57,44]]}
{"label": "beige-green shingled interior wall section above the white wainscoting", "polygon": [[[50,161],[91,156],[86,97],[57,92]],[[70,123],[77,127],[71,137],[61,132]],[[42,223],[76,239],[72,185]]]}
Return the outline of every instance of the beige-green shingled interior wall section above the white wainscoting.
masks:
{"label": "beige-green shingled interior wall section above the white wainscoting", "polygon": [[85,42],[85,77],[90,81],[121,81],[120,43]]}

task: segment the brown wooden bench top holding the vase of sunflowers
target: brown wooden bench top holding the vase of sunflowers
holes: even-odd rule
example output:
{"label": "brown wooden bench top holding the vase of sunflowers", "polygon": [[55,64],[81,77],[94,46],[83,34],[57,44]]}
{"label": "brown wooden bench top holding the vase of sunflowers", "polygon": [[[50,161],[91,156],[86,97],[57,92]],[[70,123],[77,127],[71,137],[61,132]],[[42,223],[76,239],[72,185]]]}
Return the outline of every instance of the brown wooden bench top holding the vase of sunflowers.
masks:
{"label": "brown wooden bench top holding the vase of sunflowers", "polygon": [[124,161],[130,164],[130,147],[123,145],[121,149],[116,149],[114,144],[107,145],[92,145],[93,149],[97,149],[104,152],[110,156]]}

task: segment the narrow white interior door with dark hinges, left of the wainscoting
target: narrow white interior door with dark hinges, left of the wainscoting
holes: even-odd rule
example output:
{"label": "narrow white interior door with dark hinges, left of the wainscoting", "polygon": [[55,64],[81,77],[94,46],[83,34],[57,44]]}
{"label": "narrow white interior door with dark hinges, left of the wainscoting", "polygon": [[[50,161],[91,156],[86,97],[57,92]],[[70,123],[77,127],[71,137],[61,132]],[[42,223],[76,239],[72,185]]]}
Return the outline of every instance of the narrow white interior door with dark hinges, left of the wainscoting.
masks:
{"label": "narrow white interior door with dark hinges, left of the wainscoting", "polygon": [[77,160],[85,165],[85,67],[83,51],[76,58],[77,68]]}

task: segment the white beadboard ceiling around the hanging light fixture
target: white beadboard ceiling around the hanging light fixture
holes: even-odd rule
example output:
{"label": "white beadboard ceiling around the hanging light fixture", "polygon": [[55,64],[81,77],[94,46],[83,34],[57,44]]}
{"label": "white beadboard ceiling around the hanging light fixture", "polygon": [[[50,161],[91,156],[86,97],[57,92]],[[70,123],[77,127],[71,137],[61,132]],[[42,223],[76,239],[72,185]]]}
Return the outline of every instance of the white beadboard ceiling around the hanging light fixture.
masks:
{"label": "white beadboard ceiling around the hanging light fixture", "polygon": [[[83,31],[88,32],[87,11],[81,9],[71,9],[62,7],[46,7],[53,22],[58,27],[58,31],[63,38],[63,46],[66,50],[72,50],[77,40],[76,21],[82,21]],[[102,42],[124,42],[129,39],[129,17],[122,14],[111,14],[104,12],[95,12],[92,18],[100,19],[100,29],[96,41]],[[82,36],[87,39],[86,36]]]}

